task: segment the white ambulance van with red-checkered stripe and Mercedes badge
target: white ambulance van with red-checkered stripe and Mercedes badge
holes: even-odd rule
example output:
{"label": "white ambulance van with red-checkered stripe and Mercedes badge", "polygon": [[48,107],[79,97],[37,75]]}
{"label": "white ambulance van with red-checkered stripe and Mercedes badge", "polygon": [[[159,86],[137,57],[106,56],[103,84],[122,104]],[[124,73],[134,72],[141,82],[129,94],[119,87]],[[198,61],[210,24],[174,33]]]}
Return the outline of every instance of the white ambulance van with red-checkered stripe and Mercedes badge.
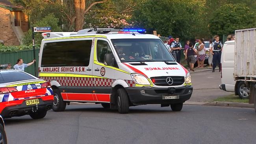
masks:
{"label": "white ambulance van with red-checkered stripe and Mercedes badge", "polygon": [[130,106],[161,104],[180,111],[191,97],[191,76],[160,38],[144,29],[84,29],[42,33],[39,77],[54,91],[54,111],[70,102]]}

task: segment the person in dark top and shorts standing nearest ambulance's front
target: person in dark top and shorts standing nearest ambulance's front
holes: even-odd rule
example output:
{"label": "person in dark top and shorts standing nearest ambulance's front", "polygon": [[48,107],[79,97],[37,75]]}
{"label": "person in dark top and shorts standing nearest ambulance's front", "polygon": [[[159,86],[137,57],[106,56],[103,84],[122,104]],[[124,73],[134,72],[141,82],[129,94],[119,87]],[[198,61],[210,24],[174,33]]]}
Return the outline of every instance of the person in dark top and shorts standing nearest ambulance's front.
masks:
{"label": "person in dark top and shorts standing nearest ambulance's front", "polygon": [[195,48],[193,48],[193,44],[189,43],[189,48],[185,52],[185,59],[187,59],[187,61],[189,62],[190,70],[192,70],[193,72],[195,71],[194,64],[197,61],[197,59],[195,58],[196,52],[197,52],[197,50]]}

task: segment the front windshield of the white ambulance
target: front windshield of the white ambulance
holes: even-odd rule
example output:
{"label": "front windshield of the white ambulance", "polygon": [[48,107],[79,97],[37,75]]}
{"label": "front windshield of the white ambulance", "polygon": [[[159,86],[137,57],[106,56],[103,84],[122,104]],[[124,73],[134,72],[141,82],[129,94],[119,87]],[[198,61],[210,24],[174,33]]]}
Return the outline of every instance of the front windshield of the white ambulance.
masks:
{"label": "front windshield of the white ambulance", "polygon": [[174,61],[160,39],[112,39],[121,62]]}

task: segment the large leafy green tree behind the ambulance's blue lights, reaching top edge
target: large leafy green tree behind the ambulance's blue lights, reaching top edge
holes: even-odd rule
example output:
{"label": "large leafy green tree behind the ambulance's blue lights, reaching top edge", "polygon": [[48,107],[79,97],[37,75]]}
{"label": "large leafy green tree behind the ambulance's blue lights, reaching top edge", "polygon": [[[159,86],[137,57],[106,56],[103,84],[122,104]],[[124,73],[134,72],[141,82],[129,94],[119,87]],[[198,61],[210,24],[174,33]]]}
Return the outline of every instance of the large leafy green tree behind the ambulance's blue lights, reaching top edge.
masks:
{"label": "large leafy green tree behind the ambulance's blue lights, reaching top edge", "polygon": [[194,37],[200,29],[205,0],[147,0],[134,11],[138,27],[163,36]]}

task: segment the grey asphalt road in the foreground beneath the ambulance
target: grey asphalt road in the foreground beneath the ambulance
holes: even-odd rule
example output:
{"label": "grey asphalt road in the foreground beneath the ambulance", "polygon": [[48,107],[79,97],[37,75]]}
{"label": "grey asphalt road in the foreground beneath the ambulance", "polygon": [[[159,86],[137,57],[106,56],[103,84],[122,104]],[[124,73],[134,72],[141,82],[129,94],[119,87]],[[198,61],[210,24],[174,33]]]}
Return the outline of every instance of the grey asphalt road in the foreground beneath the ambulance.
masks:
{"label": "grey asphalt road in the foreground beneath the ambulance", "polygon": [[101,105],[68,105],[45,118],[6,119],[9,144],[255,144],[253,109],[184,105],[130,107],[129,114]]}

